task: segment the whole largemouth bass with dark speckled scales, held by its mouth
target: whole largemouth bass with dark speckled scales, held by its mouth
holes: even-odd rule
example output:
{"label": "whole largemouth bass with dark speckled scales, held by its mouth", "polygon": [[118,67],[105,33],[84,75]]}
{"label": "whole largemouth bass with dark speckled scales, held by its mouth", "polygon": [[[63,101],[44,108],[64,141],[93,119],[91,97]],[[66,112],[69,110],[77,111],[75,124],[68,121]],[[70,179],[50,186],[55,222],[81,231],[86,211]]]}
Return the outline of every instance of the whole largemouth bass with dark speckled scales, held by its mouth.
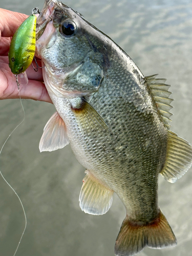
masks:
{"label": "whole largemouth bass with dark speckled scales, held by its mouth", "polygon": [[36,25],[36,55],[56,112],[39,150],[70,143],[86,168],[80,208],[103,215],[116,193],[126,209],[115,255],[175,246],[158,205],[158,176],[174,183],[192,164],[191,145],[170,131],[169,85],[135,62],[79,12],[46,0]]}

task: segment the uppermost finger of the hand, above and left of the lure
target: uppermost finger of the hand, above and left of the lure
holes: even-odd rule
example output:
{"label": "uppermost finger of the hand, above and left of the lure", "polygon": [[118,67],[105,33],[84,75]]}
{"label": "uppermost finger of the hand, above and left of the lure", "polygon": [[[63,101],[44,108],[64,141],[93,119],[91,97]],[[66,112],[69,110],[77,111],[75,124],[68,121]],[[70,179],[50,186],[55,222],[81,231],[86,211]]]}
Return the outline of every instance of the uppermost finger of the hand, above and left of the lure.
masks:
{"label": "uppermost finger of the hand, above and left of the lure", "polygon": [[0,8],[0,31],[2,37],[11,37],[28,15]]}

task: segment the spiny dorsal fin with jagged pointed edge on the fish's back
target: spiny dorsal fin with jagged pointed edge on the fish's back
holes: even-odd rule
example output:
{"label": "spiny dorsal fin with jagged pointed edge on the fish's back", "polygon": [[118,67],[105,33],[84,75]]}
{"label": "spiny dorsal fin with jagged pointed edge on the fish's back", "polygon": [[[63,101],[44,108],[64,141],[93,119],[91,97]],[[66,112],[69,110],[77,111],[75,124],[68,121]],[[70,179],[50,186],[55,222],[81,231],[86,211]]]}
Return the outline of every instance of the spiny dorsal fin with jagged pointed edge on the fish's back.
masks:
{"label": "spiny dorsal fin with jagged pointed edge on the fish's back", "polygon": [[168,92],[170,86],[165,84],[166,79],[156,79],[156,76],[157,75],[145,76],[145,79],[159,113],[162,116],[164,125],[167,127],[167,130],[169,130],[169,121],[171,121],[169,117],[173,115],[172,113],[169,113],[169,110],[173,108],[173,106],[170,105],[173,99],[169,99],[169,96],[172,93]]}

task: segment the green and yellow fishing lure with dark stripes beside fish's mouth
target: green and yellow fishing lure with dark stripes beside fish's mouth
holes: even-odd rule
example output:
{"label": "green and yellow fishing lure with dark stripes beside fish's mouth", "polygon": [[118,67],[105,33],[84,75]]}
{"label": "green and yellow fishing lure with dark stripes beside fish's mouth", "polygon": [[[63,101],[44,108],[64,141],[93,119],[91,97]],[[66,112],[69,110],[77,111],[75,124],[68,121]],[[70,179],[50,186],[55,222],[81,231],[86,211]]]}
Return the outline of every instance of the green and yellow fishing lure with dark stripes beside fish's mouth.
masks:
{"label": "green and yellow fishing lure with dark stripes beside fish's mouth", "polygon": [[23,73],[31,65],[35,55],[36,19],[38,8],[32,10],[30,15],[16,30],[11,40],[9,50],[9,67],[15,75]]}

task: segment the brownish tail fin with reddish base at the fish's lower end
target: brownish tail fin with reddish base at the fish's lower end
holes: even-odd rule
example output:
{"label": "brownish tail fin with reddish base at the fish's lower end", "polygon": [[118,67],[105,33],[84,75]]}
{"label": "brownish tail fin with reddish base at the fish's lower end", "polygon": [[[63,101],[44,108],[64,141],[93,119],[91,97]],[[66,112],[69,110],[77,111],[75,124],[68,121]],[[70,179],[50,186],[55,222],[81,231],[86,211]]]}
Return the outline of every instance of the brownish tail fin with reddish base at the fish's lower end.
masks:
{"label": "brownish tail fin with reddish base at the fish's lower end", "polygon": [[160,211],[153,223],[137,225],[126,216],[119,231],[115,254],[117,256],[136,255],[145,246],[160,249],[177,244],[176,237],[166,218]]}

